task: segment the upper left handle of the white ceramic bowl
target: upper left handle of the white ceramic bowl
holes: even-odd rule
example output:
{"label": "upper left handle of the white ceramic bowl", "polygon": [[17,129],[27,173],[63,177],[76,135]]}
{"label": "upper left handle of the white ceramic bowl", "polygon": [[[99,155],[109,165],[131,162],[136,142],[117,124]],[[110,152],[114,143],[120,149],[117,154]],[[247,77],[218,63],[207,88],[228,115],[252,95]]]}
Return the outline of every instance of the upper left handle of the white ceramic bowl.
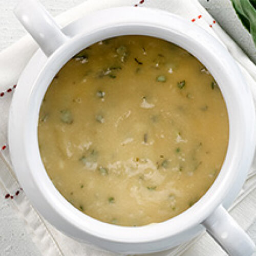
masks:
{"label": "upper left handle of the white ceramic bowl", "polygon": [[47,56],[69,39],[44,6],[36,0],[20,0],[14,14]]}

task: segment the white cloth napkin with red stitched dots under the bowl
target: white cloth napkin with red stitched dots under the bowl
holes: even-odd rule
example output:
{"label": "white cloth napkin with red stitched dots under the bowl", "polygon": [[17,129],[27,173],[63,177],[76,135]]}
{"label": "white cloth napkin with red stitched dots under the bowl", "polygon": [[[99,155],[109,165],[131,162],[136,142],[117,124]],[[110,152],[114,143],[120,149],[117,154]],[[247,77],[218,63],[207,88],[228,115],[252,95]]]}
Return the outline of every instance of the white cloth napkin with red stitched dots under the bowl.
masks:
{"label": "white cloth napkin with red stitched dots under the bowl", "polygon": [[[254,102],[256,102],[255,65],[196,0],[88,0],[57,16],[56,21],[63,27],[73,20],[96,10],[135,5],[137,7],[134,8],[151,7],[178,14],[189,22],[203,27],[219,39],[239,63],[251,88]],[[15,174],[13,173],[7,144],[8,110],[18,77],[37,48],[33,39],[27,35],[17,41],[16,44],[0,53],[0,195],[4,195],[6,200],[9,200],[9,207],[13,207],[20,218],[25,221],[31,239],[39,248],[42,255],[118,255],[117,253],[100,250],[89,244],[74,241],[48,224],[30,205],[29,200],[22,188],[20,188]],[[233,218],[247,230],[254,242],[256,242],[255,170],[256,160],[252,164],[240,196],[230,208],[230,213]],[[226,254],[207,233],[203,233],[194,241],[190,241],[167,251],[154,253],[154,255],[220,256]]]}

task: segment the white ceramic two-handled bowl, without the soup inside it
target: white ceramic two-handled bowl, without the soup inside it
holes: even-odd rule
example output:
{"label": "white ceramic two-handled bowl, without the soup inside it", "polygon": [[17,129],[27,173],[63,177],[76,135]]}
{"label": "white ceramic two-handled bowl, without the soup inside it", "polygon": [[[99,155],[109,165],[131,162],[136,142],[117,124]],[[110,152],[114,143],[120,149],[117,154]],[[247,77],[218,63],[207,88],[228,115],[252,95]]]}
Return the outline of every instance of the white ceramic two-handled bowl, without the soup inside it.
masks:
{"label": "white ceramic two-handled bowl, without the soup inside it", "polygon": [[[73,22],[62,32],[33,0],[21,1],[15,12],[41,49],[24,70],[13,96],[9,146],[18,180],[40,214],[77,240],[122,253],[165,250],[194,238],[205,226],[230,255],[251,255],[253,242],[225,208],[238,195],[252,161],[254,106],[239,68],[223,45],[195,24],[152,9],[102,10]],[[226,158],[207,193],[177,217],[142,227],[103,223],[73,207],[48,177],[37,141],[40,104],[55,74],[83,48],[105,38],[127,34],[159,37],[195,55],[218,82],[229,117]]]}

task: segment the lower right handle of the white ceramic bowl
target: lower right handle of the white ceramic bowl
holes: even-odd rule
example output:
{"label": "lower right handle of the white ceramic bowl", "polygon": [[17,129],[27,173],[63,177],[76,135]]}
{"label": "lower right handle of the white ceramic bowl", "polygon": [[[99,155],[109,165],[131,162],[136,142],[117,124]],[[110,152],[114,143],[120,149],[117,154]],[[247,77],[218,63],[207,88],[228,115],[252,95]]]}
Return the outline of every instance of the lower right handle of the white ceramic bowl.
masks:
{"label": "lower right handle of the white ceramic bowl", "polygon": [[220,205],[203,223],[207,232],[230,256],[251,256],[255,244]]}

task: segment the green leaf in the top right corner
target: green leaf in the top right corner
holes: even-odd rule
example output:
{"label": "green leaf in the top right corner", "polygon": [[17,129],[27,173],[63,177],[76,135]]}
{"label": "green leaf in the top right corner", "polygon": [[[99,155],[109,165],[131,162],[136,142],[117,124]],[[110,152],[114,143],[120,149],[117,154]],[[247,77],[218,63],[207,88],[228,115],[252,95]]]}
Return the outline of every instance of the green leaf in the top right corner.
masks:
{"label": "green leaf in the top right corner", "polygon": [[231,0],[244,27],[251,33],[256,46],[256,0]]}

